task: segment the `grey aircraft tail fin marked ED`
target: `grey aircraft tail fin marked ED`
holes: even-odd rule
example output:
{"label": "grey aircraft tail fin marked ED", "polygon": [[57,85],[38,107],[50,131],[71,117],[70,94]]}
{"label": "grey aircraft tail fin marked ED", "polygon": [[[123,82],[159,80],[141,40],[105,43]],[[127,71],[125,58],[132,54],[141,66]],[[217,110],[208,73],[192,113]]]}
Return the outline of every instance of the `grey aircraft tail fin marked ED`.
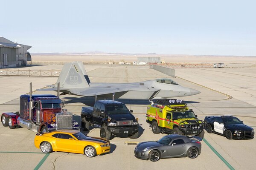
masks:
{"label": "grey aircraft tail fin marked ED", "polygon": [[[64,64],[57,82],[60,88],[87,88],[90,87],[90,79],[82,62],[67,62]],[[55,88],[57,84],[55,85]]]}

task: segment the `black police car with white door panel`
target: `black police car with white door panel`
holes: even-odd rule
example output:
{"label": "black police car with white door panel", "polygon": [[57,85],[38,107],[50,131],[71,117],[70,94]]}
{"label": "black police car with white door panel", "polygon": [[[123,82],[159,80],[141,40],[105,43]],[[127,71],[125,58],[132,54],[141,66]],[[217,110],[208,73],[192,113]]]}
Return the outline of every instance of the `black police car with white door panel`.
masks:
{"label": "black police car with white door panel", "polygon": [[253,139],[254,136],[253,128],[235,116],[206,116],[204,122],[208,133],[218,133],[227,139]]}

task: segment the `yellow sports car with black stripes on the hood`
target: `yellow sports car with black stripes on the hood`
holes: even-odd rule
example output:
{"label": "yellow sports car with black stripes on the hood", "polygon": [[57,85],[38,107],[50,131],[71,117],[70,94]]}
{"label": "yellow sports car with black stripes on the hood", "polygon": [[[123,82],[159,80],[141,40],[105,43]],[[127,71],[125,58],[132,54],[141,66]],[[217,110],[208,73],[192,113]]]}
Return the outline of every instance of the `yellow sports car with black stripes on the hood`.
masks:
{"label": "yellow sports car with black stripes on the hood", "polygon": [[103,138],[89,137],[77,130],[57,130],[50,133],[37,133],[35,147],[44,153],[52,151],[81,153],[88,157],[108,153],[110,142]]}

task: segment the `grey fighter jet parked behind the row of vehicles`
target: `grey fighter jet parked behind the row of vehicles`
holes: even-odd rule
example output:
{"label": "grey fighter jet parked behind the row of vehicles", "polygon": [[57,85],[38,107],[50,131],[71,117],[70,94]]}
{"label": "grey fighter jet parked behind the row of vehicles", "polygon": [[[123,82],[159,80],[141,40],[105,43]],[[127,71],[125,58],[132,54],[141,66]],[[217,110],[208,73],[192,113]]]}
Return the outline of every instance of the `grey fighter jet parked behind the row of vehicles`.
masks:
{"label": "grey fighter jet parked behind the row of vehicles", "polygon": [[[186,88],[172,79],[156,79],[133,83],[103,83],[90,82],[82,62],[65,63],[57,83],[60,82],[61,95],[98,96],[104,99],[162,99],[180,96],[191,96],[201,93],[192,88]],[[40,91],[57,91],[57,83],[51,88]]]}

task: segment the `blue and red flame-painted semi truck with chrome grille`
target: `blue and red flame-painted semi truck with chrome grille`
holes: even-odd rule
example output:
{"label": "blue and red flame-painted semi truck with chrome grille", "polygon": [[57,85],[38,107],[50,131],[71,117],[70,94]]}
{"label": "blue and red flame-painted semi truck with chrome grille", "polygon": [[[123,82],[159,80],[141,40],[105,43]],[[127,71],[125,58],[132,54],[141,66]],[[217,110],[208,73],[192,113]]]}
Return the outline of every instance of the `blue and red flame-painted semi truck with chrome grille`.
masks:
{"label": "blue and red flame-painted semi truck with chrome grille", "polygon": [[11,129],[25,127],[43,133],[60,129],[78,130],[78,122],[73,120],[72,113],[63,109],[64,104],[65,102],[61,102],[55,95],[32,95],[30,83],[30,94],[20,96],[20,112],[2,113],[1,122],[3,126],[9,126]]}

